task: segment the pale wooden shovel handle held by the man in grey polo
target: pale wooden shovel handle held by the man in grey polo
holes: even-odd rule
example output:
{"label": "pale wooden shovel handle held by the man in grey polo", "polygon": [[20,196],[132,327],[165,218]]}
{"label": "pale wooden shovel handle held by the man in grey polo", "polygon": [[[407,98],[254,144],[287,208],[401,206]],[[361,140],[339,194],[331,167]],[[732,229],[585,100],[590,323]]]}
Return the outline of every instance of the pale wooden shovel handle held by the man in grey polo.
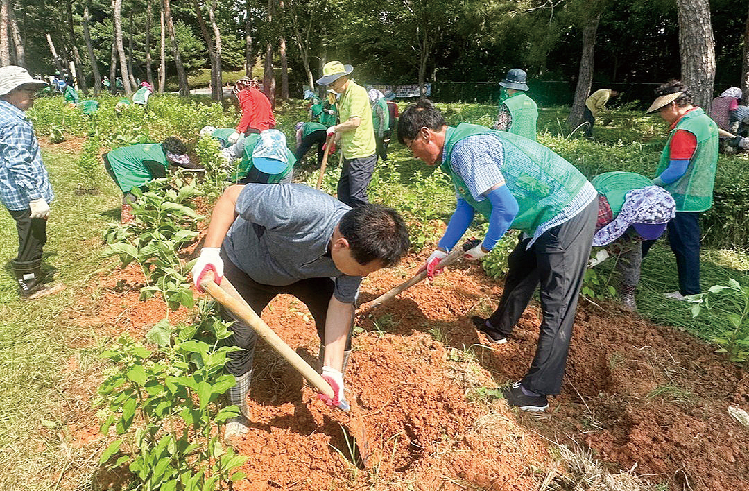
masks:
{"label": "pale wooden shovel handle held by the man in grey polo", "polygon": [[273,329],[270,329],[270,326],[258,314],[255,314],[255,311],[247,305],[247,302],[244,301],[228,279],[223,278],[219,287],[219,285],[213,282],[213,272],[209,271],[203,276],[200,286],[203,290],[210,293],[210,296],[216,302],[228,308],[234,315],[247,323],[273,350],[276,350],[276,353],[279,353],[283,359],[291,363],[291,366],[301,373],[313,387],[331,399],[335,397],[336,394],[333,393],[333,388],[330,387],[330,384],[325,381],[320,373],[310,367],[296,351],[292,350]]}

